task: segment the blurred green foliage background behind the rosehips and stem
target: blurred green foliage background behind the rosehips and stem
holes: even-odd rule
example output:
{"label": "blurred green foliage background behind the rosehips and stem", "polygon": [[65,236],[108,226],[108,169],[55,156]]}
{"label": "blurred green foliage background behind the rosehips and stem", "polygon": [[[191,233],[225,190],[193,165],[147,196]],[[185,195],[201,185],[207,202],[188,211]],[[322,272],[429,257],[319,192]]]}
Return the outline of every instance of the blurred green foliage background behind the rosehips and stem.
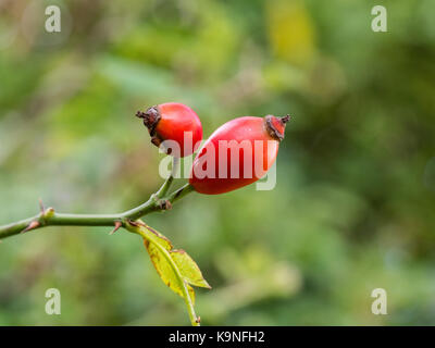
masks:
{"label": "blurred green foliage background behind the rosehips and stem", "polygon": [[[274,190],[192,194],[145,219],[213,286],[197,290],[202,324],[435,324],[433,0],[55,3],[62,32],[47,34],[52,2],[0,1],[0,224],[38,198],[77,213],[145,201],[162,156],[138,109],[186,103],[206,137],[290,113]],[[188,325],[140,238],[108,232],[3,240],[0,324]],[[52,287],[61,315],[45,313]]]}

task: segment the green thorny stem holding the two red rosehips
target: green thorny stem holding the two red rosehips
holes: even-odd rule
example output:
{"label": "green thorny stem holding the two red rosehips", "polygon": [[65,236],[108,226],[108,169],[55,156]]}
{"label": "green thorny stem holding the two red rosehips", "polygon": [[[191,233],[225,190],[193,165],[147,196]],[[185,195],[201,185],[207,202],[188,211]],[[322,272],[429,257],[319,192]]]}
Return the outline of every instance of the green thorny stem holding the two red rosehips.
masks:
{"label": "green thorny stem holding the two red rosehips", "polygon": [[177,171],[178,160],[174,160],[171,175],[161,188],[142,204],[117,214],[66,214],[57,213],[52,208],[44,209],[38,215],[24,219],[8,225],[0,226],[0,240],[13,235],[25,233],[46,226],[112,226],[116,229],[127,226],[129,221],[137,220],[154,211],[171,209],[172,204],[191,192],[194,188],[185,184],[167,195],[174,174]]}

